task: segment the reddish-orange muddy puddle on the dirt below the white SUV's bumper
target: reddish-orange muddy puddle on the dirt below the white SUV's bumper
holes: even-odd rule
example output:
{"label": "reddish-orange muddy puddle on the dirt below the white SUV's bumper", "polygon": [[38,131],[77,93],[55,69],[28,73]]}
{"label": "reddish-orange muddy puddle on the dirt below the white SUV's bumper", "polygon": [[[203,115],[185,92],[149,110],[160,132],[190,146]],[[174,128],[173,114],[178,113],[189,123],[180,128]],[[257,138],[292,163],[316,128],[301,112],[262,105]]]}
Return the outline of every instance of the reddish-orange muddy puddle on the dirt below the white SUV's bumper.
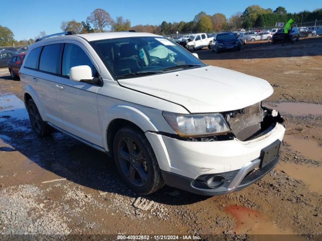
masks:
{"label": "reddish-orange muddy puddle on the dirt below the white SUV's bumper", "polygon": [[[234,232],[247,234],[295,234],[292,229],[288,227],[278,227],[267,216],[257,210],[247,207],[231,205],[224,208],[224,211],[229,213],[236,219]],[[292,240],[305,240],[300,236],[292,236]],[[272,237],[260,237],[258,240],[272,240]]]}

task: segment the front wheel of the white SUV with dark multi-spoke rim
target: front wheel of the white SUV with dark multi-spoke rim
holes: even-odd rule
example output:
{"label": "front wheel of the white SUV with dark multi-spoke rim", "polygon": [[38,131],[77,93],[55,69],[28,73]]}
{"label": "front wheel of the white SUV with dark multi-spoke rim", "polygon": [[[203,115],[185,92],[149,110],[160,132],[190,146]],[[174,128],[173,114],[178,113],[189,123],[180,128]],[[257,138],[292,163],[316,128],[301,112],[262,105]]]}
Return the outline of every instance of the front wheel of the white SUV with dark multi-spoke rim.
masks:
{"label": "front wheel of the white SUV with dark multi-spoke rim", "polygon": [[140,130],[132,127],[119,130],[113,154],[122,179],[134,192],[147,195],[164,186],[152,147]]}

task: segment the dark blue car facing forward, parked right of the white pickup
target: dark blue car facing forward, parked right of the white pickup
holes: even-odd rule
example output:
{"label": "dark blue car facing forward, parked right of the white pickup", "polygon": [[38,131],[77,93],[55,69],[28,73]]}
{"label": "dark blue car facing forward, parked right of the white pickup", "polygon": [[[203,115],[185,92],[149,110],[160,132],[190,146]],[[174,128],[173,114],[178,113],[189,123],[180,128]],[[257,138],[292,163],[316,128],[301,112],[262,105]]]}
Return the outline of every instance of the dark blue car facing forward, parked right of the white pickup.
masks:
{"label": "dark blue car facing forward, parked right of the white pickup", "polygon": [[225,50],[240,50],[241,41],[234,33],[220,33],[216,36],[215,52],[219,53]]}

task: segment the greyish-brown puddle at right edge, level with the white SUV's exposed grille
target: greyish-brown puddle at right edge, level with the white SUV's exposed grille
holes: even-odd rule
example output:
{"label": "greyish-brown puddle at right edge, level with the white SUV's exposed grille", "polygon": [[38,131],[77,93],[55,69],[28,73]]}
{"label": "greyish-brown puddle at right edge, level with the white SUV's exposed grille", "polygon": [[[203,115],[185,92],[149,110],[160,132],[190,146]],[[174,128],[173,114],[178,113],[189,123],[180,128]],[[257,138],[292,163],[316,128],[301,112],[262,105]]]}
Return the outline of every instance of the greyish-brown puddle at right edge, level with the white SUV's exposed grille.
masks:
{"label": "greyish-brown puddle at right edge, level with the white SUV's exposed grille", "polygon": [[282,113],[289,113],[292,115],[322,115],[322,104],[311,104],[304,102],[266,102],[264,106],[274,108]]}

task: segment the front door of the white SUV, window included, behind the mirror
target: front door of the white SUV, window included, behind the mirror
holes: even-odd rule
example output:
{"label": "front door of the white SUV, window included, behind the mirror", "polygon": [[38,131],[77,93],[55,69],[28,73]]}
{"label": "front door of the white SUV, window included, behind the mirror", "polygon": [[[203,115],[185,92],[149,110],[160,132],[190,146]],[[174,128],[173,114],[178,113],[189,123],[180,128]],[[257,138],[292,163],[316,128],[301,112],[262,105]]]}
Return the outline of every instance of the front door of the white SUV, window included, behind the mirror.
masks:
{"label": "front door of the white SUV, window included, behind the mirror", "polygon": [[65,43],[61,58],[61,72],[57,79],[57,100],[64,130],[92,144],[103,147],[102,131],[97,108],[97,92],[101,86],[69,79],[71,67],[88,65],[92,76],[98,76],[98,65],[86,48]]}

